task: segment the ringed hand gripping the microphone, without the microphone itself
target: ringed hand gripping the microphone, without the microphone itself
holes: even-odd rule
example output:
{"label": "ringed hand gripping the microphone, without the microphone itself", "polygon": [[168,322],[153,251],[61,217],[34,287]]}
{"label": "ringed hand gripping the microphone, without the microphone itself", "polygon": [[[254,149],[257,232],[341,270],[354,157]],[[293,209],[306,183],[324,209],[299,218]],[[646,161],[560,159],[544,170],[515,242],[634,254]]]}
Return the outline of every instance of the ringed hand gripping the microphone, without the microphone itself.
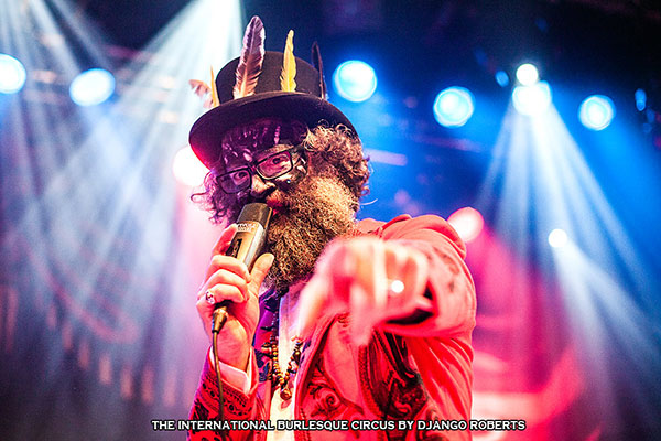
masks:
{"label": "ringed hand gripping the microphone, without the microphone itself", "polygon": [[[197,292],[197,313],[210,340],[216,303],[231,302],[227,306],[229,318],[218,334],[218,359],[246,370],[259,322],[259,288],[273,263],[273,255],[260,256],[249,273],[242,261],[225,256],[236,232],[236,224],[227,227],[214,247],[205,281]],[[207,291],[213,297],[213,304],[207,301]]]}

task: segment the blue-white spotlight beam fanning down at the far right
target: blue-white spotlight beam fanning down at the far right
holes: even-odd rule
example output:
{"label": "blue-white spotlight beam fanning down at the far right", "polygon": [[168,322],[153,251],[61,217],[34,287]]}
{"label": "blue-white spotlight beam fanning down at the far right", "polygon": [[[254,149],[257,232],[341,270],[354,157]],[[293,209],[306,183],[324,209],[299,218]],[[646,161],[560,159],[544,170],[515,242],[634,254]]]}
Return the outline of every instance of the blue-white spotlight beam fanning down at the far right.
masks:
{"label": "blue-white spotlight beam fanning down at the far right", "polygon": [[[554,259],[546,267],[557,269],[565,309],[573,319],[572,330],[582,338],[586,363],[599,364],[609,351],[626,354],[639,367],[641,359],[658,359],[658,347],[646,340],[657,316],[648,291],[658,276],[638,255],[553,106],[535,118],[510,107],[476,205],[495,213],[495,233],[518,257],[527,259],[538,248],[537,256]],[[564,229],[570,241],[551,252],[546,239],[554,228]],[[524,290],[528,282],[523,278],[519,283],[517,290]],[[637,298],[650,303],[637,305]],[[606,330],[616,330],[618,340],[609,338]],[[606,363],[590,372],[594,387],[603,394],[596,400],[603,404],[600,410],[616,421],[618,410],[609,405],[615,402],[614,376]]]}

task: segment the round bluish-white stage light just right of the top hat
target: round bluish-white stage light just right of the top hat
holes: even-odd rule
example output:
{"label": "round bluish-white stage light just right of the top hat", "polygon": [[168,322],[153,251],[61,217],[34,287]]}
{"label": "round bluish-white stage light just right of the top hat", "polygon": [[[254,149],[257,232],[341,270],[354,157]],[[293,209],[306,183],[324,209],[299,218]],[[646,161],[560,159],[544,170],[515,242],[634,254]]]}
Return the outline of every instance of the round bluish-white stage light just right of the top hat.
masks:
{"label": "round bluish-white stage light just right of the top hat", "polygon": [[377,74],[369,64],[351,60],[337,66],[333,73],[333,85],[343,98],[360,103],[377,89]]}

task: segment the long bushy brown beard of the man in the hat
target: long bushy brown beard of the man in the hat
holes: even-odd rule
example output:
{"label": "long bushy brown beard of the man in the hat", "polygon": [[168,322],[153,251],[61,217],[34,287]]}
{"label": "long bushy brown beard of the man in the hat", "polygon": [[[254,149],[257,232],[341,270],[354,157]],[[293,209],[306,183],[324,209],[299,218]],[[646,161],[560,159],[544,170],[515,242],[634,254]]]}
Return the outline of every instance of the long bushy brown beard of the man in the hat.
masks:
{"label": "long bushy brown beard of the man in the hat", "polygon": [[307,175],[282,202],[267,236],[275,256],[267,284],[279,290],[310,275],[326,244],[351,230],[356,198],[334,175]]}

